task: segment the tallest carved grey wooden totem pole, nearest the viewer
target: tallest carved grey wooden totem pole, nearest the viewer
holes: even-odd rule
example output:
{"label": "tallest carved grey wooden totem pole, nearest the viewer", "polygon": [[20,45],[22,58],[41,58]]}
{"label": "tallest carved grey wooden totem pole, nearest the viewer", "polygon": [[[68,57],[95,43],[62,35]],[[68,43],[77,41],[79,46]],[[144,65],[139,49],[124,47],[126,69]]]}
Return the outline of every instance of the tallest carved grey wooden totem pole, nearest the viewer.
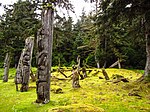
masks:
{"label": "tallest carved grey wooden totem pole, nearest the viewer", "polygon": [[50,70],[52,63],[53,45],[53,18],[51,8],[42,11],[42,29],[38,32],[38,59],[37,59],[37,103],[48,103],[50,101]]}

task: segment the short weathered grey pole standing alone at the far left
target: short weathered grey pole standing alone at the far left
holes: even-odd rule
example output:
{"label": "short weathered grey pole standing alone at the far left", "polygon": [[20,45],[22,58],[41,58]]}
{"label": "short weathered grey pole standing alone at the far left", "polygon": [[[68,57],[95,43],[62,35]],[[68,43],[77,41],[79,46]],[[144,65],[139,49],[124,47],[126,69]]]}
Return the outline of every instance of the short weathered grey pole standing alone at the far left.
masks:
{"label": "short weathered grey pole standing alone at the far left", "polygon": [[9,75],[9,65],[10,65],[10,54],[6,53],[6,57],[4,60],[4,76],[3,76],[3,82],[8,81],[8,75]]}

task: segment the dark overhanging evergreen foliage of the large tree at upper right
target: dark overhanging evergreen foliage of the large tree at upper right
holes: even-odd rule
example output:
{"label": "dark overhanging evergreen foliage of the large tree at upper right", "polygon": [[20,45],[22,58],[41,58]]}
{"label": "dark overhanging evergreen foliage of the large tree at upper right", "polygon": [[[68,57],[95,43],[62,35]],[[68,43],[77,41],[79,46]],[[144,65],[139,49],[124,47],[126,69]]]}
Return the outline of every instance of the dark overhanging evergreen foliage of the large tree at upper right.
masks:
{"label": "dark overhanging evergreen foliage of the large tree at upper right", "polygon": [[[149,15],[150,15],[150,1],[149,0],[143,0],[143,1],[141,0],[137,0],[137,1],[105,0],[105,1],[102,1],[100,5],[100,10],[97,16],[98,27],[100,28],[101,25],[107,26],[107,30],[105,30],[104,32],[107,32],[107,31],[110,32],[114,27],[119,26],[118,28],[120,29],[120,32],[117,32],[116,34],[119,35],[119,37],[121,38],[127,38],[130,36],[134,38],[134,40],[138,39],[139,42],[141,43],[141,40],[144,40],[142,38],[145,37],[147,59],[146,59],[144,76],[150,76],[150,69],[149,69],[149,66],[150,66],[150,61],[149,61],[150,60],[150,56],[149,56],[150,54],[150,50],[149,50],[150,49],[150,46],[149,46],[150,45],[149,44],[150,21],[148,19]],[[113,31],[113,33],[115,32]],[[117,35],[115,35],[115,37],[118,37]],[[127,53],[130,52],[129,56],[130,56],[131,62],[133,60],[132,57],[134,56],[135,56],[134,58],[139,59],[137,56],[137,54],[139,54],[139,49],[137,51],[133,50],[134,48],[137,47],[137,45],[134,45],[135,44],[134,40],[131,42],[128,50],[126,50]],[[132,53],[133,53],[133,56],[131,57]],[[143,55],[145,53],[141,51],[141,54]],[[141,58],[138,61],[141,62]],[[139,64],[139,63],[137,63],[136,61],[136,63],[133,62],[133,64],[135,66],[135,64]]]}

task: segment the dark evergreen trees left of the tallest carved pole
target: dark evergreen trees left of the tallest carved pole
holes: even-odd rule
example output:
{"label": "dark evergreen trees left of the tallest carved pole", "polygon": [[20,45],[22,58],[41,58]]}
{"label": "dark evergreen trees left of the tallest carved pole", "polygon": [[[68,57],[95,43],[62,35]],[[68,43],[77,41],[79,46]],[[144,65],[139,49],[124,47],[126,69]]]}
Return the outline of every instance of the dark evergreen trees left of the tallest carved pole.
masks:
{"label": "dark evergreen trees left of the tallest carved pole", "polygon": [[[11,52],[11,67],[18,64],[24,41],[29,36],[35,36],[39,27],[39,20],[35,4],[19,0],[13,5],[4,6],[5,13],[1,16],[1,52]],[[0,59],[4,59],[1,57]],[[1,60],[2,61],[2,60]]]}

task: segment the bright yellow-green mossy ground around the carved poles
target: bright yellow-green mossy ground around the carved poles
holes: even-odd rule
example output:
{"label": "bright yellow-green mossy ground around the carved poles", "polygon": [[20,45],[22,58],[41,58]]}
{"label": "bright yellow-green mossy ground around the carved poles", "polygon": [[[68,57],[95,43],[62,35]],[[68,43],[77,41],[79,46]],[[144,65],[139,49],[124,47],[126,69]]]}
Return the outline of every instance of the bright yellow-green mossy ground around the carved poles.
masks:
{"label": "bright yellow-green mossy ground around the carved poles", "polygon": [[[50,102],[36,104],[36,82],[30,82],[28,92],[16,91],[15,69],[10,69],[6,83],[2,81],[3,69],[0,69],[0,112],[150,112],[150,83],[135,82],[142,76],[140,70],[106,69],[108,81],[101,69],[91,70],[87,78],[80,80],[78,89],[72,88],[70,78],[53,72]],[[71,71],[64,73],[69,76]],[[116,81],[112,77],[116,74],[129,82]]]}

